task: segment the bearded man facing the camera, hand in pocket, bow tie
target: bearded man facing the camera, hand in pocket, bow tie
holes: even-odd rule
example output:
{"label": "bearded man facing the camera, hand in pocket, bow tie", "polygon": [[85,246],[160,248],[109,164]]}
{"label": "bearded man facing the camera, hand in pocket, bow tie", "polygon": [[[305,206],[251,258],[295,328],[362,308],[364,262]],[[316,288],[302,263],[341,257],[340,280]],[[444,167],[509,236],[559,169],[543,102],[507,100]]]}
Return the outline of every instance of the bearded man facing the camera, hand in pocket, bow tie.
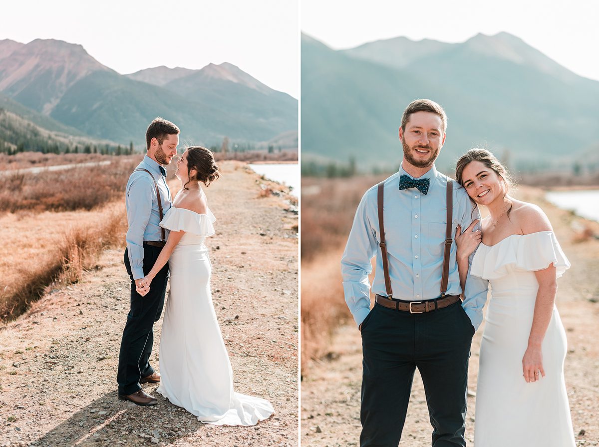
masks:
{"label": "bearded man facing the camera, hand in pocket, bow tie", "polygon": [[408,105],[399,130],[400,170],[362,197],[341,259],[345,300],[362,333],[361,447],[397,447],[416,368],[431,445],[466,445],[468,358],[488,286],[468,276],[464,303],[459,299],[452,236],[458,224],[468,228],[480,215],[464,189],[435,169],[446,127],[436,102]]}

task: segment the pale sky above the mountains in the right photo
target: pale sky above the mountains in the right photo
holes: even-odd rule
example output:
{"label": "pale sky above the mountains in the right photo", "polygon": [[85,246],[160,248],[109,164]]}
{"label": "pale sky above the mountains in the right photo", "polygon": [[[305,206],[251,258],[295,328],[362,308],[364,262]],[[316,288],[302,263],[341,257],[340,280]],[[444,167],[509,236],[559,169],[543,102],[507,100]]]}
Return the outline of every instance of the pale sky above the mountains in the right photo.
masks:
{"label": "pale sky above the mountains in the right photo", "polygon": [[300,0],[301,29],[333,49],[405,36],[463,42],[506,31],[576,74],[599,80],[599,2]]}

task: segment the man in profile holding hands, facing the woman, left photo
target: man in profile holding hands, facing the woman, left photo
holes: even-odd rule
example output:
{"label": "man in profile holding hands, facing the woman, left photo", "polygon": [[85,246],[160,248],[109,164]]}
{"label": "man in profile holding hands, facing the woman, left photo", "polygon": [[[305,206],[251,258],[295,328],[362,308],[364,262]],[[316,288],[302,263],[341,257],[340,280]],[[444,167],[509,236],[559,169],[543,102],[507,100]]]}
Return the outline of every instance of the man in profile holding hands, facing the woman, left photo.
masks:
{"label": "man in profile holding hands, facing the woman, left photo", "polygon": [[146,156],[129,177],[125,191],[129,223],[125,267],[131,277],[131,310],[123,330],[116,380],[119,399],[155,405],[156,398],[144,392],[140,383],[160,382],[160,374],[150,366],[150,354],[154,343],[152,328],[164,307],[168,263],[153,279],[149,290],[141,287],[140,281],[152,270],[167,240],[167,231],[158,225],[171,207],[167,171],[162,165],[170,164],[177,154],[179,128],[156,118],[147,128],[146,145]]}

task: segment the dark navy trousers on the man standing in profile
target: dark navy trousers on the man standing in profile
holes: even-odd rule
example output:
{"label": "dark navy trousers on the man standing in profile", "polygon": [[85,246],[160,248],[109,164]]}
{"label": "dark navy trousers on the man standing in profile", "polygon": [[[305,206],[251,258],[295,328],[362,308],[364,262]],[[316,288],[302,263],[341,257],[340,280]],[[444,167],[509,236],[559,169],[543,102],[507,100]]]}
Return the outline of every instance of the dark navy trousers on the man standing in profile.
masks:
{"label": "dark navy trousers on the man standing in profile", "polygon": [[[144,275],[150,273],[161,250],[161,247],[144,246]],[[150,354],[154,344],[153,327],[160,319],[168,282],[167,262],[152,280],[150,291],[142,297],[135,290],[135,280],[126,249],[125,267],[131,278],[131,309],[120,342],[119,369],[116,377],[120,395],[133,394],[141,389],[141,377],[154,372],[150,366]]]}

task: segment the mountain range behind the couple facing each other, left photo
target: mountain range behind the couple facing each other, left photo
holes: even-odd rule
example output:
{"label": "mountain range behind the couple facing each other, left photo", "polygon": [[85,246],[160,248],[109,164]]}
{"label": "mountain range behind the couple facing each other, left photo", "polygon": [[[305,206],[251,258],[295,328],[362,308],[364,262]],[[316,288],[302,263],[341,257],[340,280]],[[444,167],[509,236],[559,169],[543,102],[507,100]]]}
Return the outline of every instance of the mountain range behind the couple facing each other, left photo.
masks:
{"label": "mountain range behind the couple facing each other, left photo", "polygon": [[7,103],[14,113],[10,107],[18,103],[38,121],[47,117],[53,126],[120,144],[144,146],[147,125],[156,116],[176,123],[181,141],[204,146],[220,146],[225,136],[258,144],[297,134],[297,99],[227,62],[121,75],[80,45],[2,40],[0,94],[4,102],[14,101]]}

